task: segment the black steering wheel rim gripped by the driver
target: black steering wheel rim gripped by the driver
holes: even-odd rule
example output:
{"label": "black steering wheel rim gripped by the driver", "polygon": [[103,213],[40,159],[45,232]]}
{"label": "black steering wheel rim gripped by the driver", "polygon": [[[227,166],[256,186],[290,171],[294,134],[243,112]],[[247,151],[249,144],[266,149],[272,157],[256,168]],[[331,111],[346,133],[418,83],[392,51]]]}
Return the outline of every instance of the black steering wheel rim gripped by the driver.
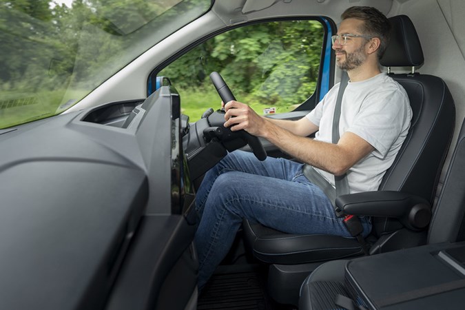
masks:
{"label": "black steering wheel rim gripped by the driver", "polygon": [[[221,77],[218,72],[211,72],[210,79],[213,85],[215,86],[216,91],[220,95],[221,100],[223,100],[224,103],[228,103],[231,100],[236,100],[228,85],[226,84],[225,80],[223,80],[223,77]],[[218,112],[224,114],[225,110],[220,110]],[[240,134],[242,138],[244,138],[245,141],[247,141],[247,144],[252,149],[252,152],[254,152],[256,158],[258,158],[259,161],[265,161],[265,159],[267,158],[267,151],[265,151],[265,149],[263,148],[263,145],[260,142],[260,140],[256,136],[252,136],[245,130],[238,131],[238,134]]]}

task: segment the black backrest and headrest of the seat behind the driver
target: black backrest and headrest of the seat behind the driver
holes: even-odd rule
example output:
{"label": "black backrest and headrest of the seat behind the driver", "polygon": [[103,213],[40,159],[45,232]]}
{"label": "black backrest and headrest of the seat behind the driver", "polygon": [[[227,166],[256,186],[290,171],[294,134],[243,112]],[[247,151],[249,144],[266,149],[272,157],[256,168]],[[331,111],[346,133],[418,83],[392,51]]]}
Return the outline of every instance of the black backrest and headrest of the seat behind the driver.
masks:
{"label": "black backrest and headrest of the seat behind the driver", "polygon": [[[393,26],[391,43],[380,60],[385,67],[422,65],[422,47],[409,17],[389,19]],[[421,196],[433,203],[442,165],[455,126],[455,105],[446,83],[437,76],[409,73],[392,74],[409,95],[413,111],[411,128],[380,190]],[[375,231],[391,230],[386,219],[375,220]]]}

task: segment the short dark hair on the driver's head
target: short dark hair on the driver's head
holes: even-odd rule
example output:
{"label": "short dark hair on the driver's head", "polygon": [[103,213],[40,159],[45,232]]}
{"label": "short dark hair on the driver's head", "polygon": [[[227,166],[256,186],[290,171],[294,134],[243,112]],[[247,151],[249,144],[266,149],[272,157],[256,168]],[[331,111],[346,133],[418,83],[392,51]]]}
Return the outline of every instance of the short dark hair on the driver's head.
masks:
{"label": "short dark hair on the driver's head", "polygon": [[372,37],[380,38],[380,48],[378,49],[378,59],[381,59],[386,51],[389,39],[391,39],[391,22],[379,10],[370,6],[352,6],[341,15],[344,19],[360,19],[364,25],[360,32]]}

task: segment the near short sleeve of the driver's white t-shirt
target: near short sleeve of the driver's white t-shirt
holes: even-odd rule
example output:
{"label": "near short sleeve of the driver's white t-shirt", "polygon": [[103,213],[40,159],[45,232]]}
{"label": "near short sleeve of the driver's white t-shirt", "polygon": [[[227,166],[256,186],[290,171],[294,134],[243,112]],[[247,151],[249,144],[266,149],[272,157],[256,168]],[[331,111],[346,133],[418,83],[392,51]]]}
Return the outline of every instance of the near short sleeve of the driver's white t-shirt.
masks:
{"label": "near short sleeve of the driver's white t-shirt", "polygon": [[384,158],[411,119],[409,99],[404,92],[383,92],[367,98],[346,132],[352,132],[375,147]]}

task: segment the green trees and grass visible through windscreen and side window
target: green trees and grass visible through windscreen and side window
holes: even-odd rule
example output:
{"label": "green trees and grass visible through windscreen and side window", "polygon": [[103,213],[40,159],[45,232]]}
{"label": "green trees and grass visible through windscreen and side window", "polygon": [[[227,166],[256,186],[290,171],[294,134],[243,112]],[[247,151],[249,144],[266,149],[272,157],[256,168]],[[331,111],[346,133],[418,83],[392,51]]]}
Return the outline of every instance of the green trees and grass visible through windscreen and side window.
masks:
{"label": "green trees and grass visible through windscreen and side window", "polygon": [[[206,10],[205,2],[0,0],[0,128],[63,112],[163,39],[154,38],[160,25],[181,10]],[[192,121],[220,106],[212,71],[257,112],[287,112],[315,90],[323,33],[318,21],[247,25],[205,41],[158,75],[171,79]]]}

